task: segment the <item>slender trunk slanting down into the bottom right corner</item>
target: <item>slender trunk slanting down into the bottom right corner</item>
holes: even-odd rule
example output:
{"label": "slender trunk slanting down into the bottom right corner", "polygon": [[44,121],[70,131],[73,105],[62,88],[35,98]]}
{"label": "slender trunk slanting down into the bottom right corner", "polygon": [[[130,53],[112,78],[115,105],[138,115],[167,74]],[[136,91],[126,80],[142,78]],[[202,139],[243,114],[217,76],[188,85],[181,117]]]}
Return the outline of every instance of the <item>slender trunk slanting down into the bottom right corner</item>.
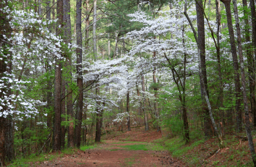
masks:
{"label": "slender trunk slanting down into the bottom right corner", "polygon": [[244,100],[244,114],[245,114],[245,130],[248,137],[249,148],[252,156],[252,161],[254,166],[256,166],[256,154],[253,146],[252,140],[252,132],[250,127],[250,116],[248,110],[248,102],[246,96],[246,83],[245,83],[245,72],[244,72],[244,60],[243,60],[243,51],[242,51],[242,40],[241,40],[241,30],[239,25],[239,18],[238,18],[238,11],[237,11],[237,2],[233,0],[234,4],[234,12],[235,12],[235,20],[236,20],[236,31],[237,31],[237,43],[238,43],[238,52],[239,52],[239,59],[240,59],[240,69],[241,69],[241,80],[242,80],[242,93],[243,93],[243,100]]}

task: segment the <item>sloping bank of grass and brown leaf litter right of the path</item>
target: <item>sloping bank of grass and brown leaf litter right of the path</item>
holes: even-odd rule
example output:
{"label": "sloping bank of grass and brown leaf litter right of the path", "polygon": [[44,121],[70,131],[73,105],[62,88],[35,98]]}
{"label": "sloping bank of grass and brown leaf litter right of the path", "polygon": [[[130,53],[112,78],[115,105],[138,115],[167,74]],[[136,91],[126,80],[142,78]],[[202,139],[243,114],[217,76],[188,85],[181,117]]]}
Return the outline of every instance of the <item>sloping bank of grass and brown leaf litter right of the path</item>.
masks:
{"label": "sloping bank of grass and brown leaf litter right of the path", "polygon": [[[245,136],[239,136],[242,135]],[[185,144],[182,137],[161,138],[154,143],[164,146],[188,166],[253,166],[248,141],[239,140],[232,135],[224,136],[225,148],[221,150],[216,138],[193,140],[189,144]]]}

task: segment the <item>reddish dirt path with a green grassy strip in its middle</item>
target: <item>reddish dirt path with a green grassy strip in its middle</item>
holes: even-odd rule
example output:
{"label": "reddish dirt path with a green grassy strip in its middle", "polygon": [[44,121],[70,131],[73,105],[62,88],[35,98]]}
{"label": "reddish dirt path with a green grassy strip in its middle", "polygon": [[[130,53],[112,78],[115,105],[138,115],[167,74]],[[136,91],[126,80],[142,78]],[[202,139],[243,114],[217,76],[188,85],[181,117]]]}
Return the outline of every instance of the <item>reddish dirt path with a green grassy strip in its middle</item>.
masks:
{"label": "reddish dirt path with a green grassy strip in its middle", "polygon": [[184,166],[167,152],[150,150],[146,142],[105,141],[99,148],[64,155],[37,166]]}

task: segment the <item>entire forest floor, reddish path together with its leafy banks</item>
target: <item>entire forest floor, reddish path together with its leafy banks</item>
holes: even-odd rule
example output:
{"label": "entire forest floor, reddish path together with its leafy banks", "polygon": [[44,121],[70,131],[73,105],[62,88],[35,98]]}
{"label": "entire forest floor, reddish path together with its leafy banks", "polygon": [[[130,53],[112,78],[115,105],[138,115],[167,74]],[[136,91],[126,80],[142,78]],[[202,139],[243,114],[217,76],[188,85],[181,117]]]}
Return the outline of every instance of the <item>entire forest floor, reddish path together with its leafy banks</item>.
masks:
{"label": "entire forest floor, reddish path together with its leafy banks", "polygon": [[145,132],[144,126],[107,132],[100,144],[17,160],[10,166],[252,166],[248,141],[232,133],[224,136],[226,147],[220,150],[214,137],[195,137],[185,144],[181,136],[168,137],[165,130]]}

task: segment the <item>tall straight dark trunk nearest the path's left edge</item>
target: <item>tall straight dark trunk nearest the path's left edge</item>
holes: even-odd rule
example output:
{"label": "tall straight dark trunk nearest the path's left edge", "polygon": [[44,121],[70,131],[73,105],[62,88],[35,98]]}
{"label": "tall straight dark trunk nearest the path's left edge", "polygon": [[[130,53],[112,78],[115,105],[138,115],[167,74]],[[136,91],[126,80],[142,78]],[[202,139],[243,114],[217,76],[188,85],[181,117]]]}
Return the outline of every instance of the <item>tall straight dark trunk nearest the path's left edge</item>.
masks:
{"label": "tall straight dark trunk nearest the path's left edge", "polygon": [[81,17],[82,17],[82,2],[76,0],[76,74],[77,74],[77,87],[78,99],[77,109],[75,114],[75,146],[81,145],[81,125],[82,125],[82,112],[83,112],[83,77],[82,77],[82,31],[81,31]]}

